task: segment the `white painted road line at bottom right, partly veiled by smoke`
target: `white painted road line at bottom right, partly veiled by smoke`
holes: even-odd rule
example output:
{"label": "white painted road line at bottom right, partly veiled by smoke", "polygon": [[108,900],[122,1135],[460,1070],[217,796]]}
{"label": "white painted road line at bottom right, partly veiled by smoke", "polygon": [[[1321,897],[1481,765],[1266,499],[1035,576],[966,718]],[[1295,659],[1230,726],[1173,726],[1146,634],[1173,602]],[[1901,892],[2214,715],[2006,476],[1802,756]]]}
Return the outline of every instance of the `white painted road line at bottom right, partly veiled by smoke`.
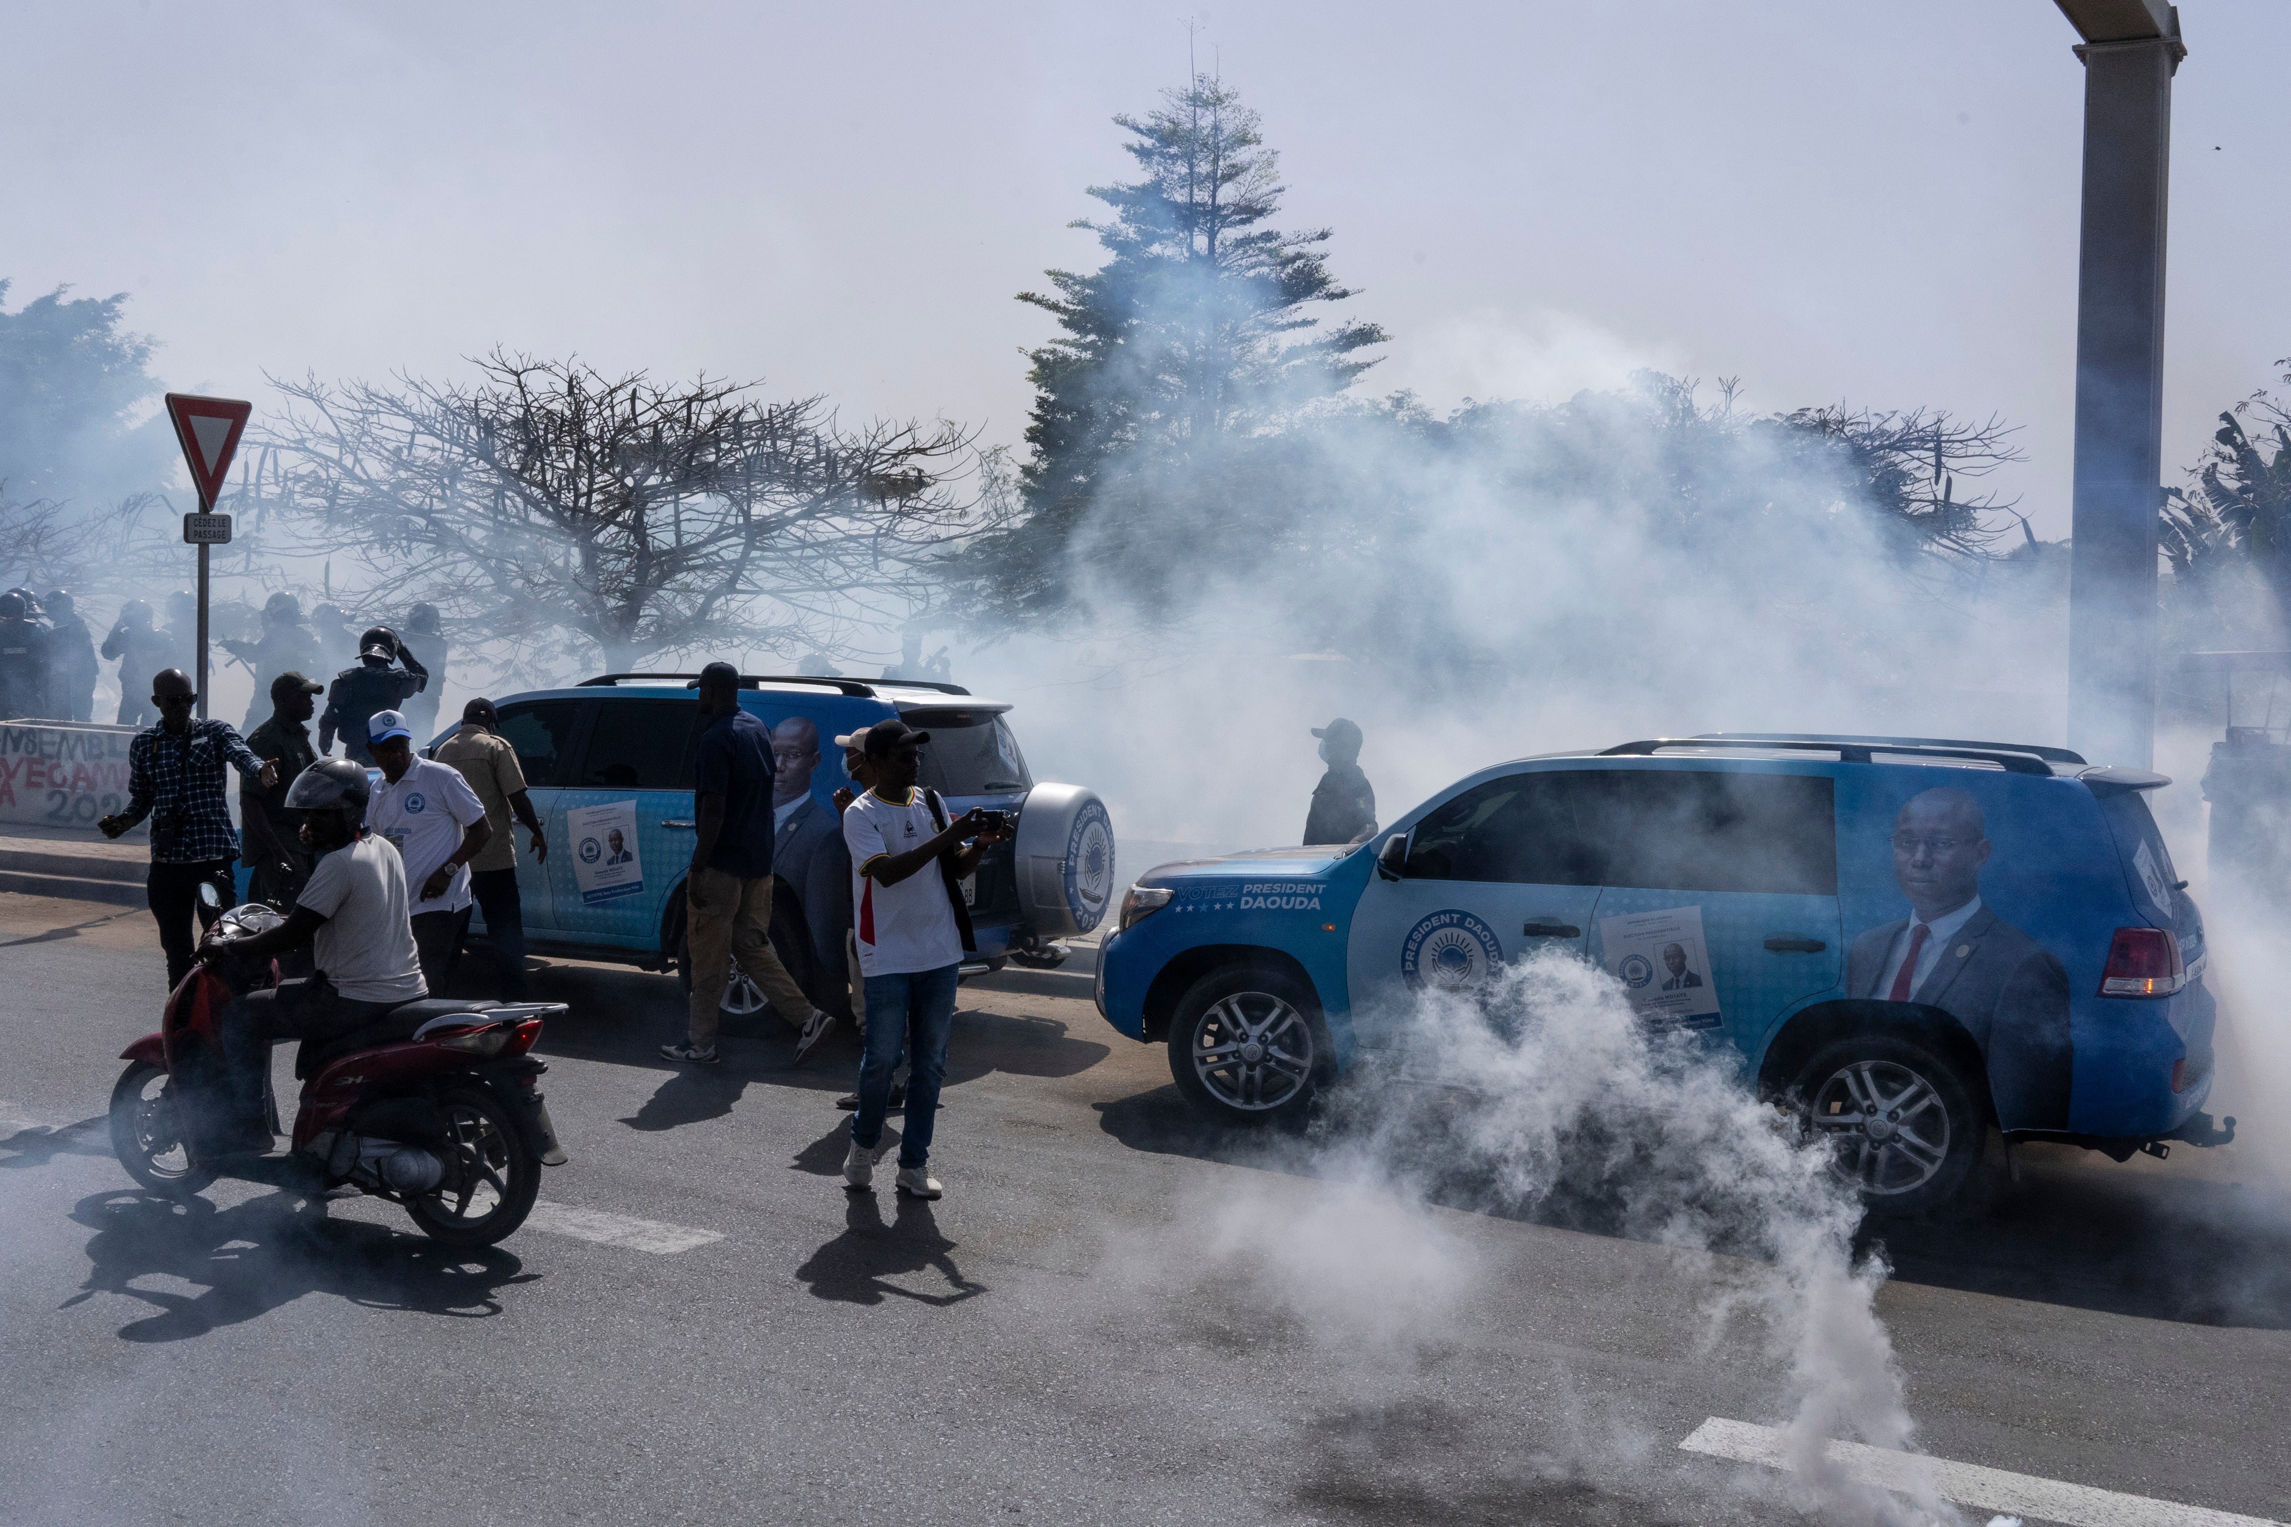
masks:
{"label": "white painted road line at bottom right, partly veiled by smoke", "polygon": [[[1750,1422],[1730,1422],[1714,1415],[1695,1426],[1693,1435],[1679,1442],[1679,1449],[1787,1470],[1789,1451],[1785,1438],[1787,1433],[1780,1426],[1753,1426]],[[2124,1495],[2119,1490],[2094,1490],[2083,1484],[1986,1470],[1977,1463],[1924,1458],[1863,1442],[1831,1442],[1828,1454],[1844,1465],[1847,1474],[1881,1490],[1911,1490],[1920,1477],[1929,1477],[1940,1497],[1959,1506],[2009,1511],[2041,1522],[2062,1522],[2064,1527],[2284,1527],[2284,1522],[2270,1518],[2181,1506],[2179,1502]]]}

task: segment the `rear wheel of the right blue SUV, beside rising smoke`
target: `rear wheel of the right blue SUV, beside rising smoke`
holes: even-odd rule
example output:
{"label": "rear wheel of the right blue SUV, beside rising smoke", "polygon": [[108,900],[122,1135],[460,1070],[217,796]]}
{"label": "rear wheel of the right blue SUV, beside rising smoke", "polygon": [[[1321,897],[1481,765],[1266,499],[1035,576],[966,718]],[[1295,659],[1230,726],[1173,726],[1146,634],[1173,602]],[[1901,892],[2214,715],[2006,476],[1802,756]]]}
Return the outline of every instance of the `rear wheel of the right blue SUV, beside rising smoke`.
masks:
{"label": "rear wheel of the right blue SUV, beside rising smoke", "polygon": [[1837,1149],[1837,1174],[1872,1213],[1952,1202],[1986,1142],[1973,1087],[1936,1049],[1899,1035],[1824,1044],[1794,1087],[1810,1136]]}

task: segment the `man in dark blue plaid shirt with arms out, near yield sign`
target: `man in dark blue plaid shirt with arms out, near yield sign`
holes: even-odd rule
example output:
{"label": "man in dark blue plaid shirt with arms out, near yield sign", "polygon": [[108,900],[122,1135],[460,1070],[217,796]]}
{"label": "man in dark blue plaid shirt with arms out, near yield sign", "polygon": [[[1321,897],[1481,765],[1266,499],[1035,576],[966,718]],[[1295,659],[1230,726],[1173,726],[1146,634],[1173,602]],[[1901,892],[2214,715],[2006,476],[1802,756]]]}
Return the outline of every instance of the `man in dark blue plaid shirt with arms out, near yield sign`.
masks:
{"label": "man in dark blue plaid shirt with arms out, near yield sign", "polygon": [[117,838],[151,817],[151,879],[144,900],[158,920],[158,941],[167,950],[167,989],[174,991],[190,973],[197,948],[190,920],[199,911],[199,881],[213,881],[225,907],[234,900],[238,833],[231,829],[231,808],[222,801],[222,765],[261,781],[266,790],[277,783],[280,767],[275,758],[257,758],[229,721],[195,721],[190,712],[199,691],[181,668],[151,680],[151,703],[158,707],[158,726],[135,733],[128,744],[128,808],[96,826],[105,838]]}

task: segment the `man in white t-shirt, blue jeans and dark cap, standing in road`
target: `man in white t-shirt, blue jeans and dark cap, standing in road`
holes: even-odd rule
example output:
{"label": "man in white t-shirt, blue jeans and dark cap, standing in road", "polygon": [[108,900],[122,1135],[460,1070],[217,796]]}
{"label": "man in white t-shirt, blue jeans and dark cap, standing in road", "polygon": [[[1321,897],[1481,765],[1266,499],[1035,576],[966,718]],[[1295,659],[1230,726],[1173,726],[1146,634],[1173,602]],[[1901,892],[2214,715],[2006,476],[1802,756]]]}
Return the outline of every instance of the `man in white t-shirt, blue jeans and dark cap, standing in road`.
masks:
{"label": "man in white t-shirt, blue jeans and dark cap, standing in road", "polygon": [[[960,879],[978,852],[1010,829],[999,813],[969,810],[946,822],[935,792],[916,790],[921,746],[930,733],[905,721],[877,721],[866,733],[873,788],[843,813],[852,856],[852,904],[859,971],[866,978],[866,1051],[859,1058],[859,1113],[843,1156],[843,1181],[866,1188],[882,1152],[891,1071],[907,1044],[907,1124],[898,1140],[898,1190],[939,1197],[930,1177],[930,1131],[946,1078],[946,1035],[955,1023],[955,975],[971,948]],[[962,847],[969,842],[969,847]]]}

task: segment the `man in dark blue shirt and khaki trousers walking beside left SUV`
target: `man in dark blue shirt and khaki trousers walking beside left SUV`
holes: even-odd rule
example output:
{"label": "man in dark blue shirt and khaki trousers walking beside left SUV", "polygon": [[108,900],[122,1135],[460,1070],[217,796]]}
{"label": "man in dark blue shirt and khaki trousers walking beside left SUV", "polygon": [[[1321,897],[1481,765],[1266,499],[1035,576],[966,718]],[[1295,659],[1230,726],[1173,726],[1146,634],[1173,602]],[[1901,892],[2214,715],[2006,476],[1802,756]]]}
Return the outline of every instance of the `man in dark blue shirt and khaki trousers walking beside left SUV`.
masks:
{"label": "man in dark blue shirt and khaki trousers walking beside left SUV", "polygon": [[772,733],[740,710],[740,671],[731,664],[701,668],[699,698],[708,730],[694,774],[699,833],[685,877],[692,1019],[685,1042],[662,1044],[660,1053],[703,1067],[717,1062],[717,1007],[738,959],[779,1016],[802,1023],[795,1046],[802,1060],[834,1019],[811,1005],[772,952]]}

